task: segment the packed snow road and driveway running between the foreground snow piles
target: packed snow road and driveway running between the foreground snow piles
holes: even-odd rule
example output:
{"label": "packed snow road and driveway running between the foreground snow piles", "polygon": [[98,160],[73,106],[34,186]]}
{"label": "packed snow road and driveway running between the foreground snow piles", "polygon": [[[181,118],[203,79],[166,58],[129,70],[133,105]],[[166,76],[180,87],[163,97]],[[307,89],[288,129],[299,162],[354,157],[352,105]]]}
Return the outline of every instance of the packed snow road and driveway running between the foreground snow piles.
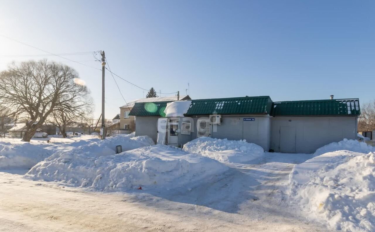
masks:
{"label": "packed snow road and driveway running between the foreground snow piles", "polygon": [[87,192],[0,170],[0,231],[326,232],[299,216],[284,192],[293,164],[309,158],[268,153],[263,164],[226,164],[199,187],[163,192]]}

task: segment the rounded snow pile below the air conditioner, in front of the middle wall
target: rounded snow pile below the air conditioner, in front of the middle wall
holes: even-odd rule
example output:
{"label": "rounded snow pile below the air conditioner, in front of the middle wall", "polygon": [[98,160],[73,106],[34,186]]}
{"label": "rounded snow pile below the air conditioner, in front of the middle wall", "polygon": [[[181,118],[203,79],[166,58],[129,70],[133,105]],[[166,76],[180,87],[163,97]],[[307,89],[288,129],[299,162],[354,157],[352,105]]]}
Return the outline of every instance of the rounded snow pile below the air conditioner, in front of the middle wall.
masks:
{"label": "rounded snow pile below the air conditioner, in front of the middle wall", "polygon": [[183,149],[221,162],[243,163],[264,155],[261,146],[246,140],[227,140],[199,137],[186,143]]}

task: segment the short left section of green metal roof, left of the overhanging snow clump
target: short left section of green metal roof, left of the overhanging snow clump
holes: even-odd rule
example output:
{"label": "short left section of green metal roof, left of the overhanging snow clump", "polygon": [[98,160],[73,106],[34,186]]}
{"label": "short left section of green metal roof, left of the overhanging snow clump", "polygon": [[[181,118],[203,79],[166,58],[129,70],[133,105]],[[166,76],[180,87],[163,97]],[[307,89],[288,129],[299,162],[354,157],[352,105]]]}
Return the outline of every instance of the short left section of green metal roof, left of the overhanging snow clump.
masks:
{"label": "short left section of green metal roof, left of the overhanging snow clump", "polygon": [[171,101],[139,102],[135,103],[129,115],[132,116],[165,116],[166,104]]}

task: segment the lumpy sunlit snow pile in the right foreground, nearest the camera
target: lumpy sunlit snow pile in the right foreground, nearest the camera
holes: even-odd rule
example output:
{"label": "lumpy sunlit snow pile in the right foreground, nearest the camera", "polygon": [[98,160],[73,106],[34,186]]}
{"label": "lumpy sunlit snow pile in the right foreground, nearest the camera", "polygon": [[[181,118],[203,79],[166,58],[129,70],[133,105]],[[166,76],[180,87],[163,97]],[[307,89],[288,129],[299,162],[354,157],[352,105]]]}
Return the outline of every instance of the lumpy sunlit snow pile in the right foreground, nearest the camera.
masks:
{"label": "lumpy sunlit snow pile in the right foreground, nearest the camera", "polygon": [[375,153],[338,151],[323,156],[337,162],[310,173],[308,183],[294,186],[297,201],[334,229],[375,231]]}

